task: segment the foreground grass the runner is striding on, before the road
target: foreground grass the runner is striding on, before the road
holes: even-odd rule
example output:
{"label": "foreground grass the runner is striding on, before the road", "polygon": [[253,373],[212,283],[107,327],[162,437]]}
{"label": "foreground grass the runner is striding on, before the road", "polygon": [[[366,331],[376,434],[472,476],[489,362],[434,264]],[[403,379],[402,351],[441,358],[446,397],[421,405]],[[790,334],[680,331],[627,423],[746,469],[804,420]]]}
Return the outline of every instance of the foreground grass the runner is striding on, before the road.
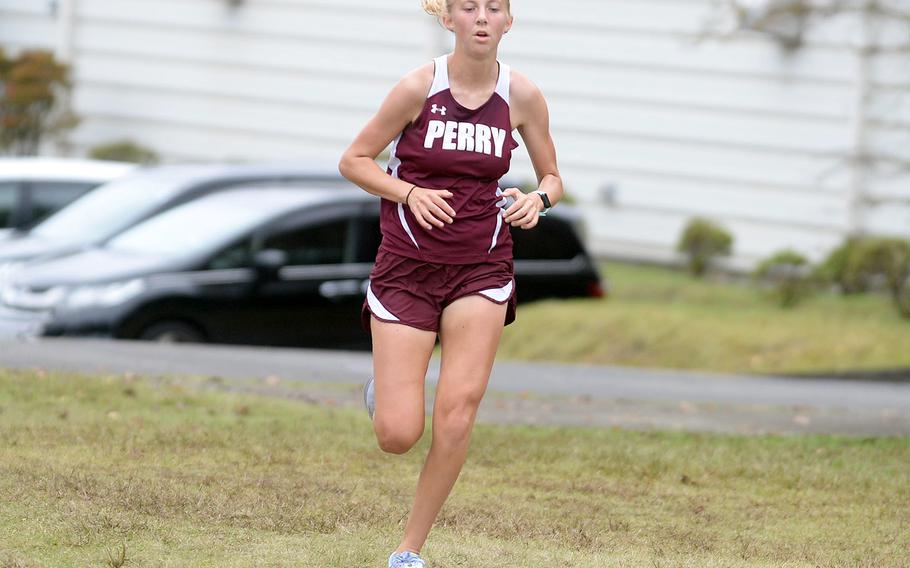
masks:
{"label": "foreground grass the runner is striding on, before the road", "polygon": [[[0,370],[0,567],[382,567],[427,434],[174,381]],[[910,440],[478,425],[432,568],[910,566]],[[121,561],[121,554],[125,561]]]}

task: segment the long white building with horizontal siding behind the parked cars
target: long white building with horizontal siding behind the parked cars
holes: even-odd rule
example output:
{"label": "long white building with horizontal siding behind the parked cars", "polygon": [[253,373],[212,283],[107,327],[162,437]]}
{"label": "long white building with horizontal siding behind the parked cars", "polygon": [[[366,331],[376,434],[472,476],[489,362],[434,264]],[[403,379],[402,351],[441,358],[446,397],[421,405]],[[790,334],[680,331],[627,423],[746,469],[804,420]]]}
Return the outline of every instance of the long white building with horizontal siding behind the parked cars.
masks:
{"label": "long white building with horizontal siding behind the parked cars", "polygon": [[[910,55],[854,48],[900,30],[834,20],[788,53],[699,39],[711,0],[512,8],[500,58],[547,96],[596,253],[674,258],[694,215],[733,232],[738,267],[784,247],[818,260],[850,231],[910,236]],[[0,45],[73,65],[67,152],[132,138],[168,160],[337,161],[451,38],[417,0],[0,0]],[[890,171],[851,159],[868,152]],[[523,146],[513,174],[533,177]]]}

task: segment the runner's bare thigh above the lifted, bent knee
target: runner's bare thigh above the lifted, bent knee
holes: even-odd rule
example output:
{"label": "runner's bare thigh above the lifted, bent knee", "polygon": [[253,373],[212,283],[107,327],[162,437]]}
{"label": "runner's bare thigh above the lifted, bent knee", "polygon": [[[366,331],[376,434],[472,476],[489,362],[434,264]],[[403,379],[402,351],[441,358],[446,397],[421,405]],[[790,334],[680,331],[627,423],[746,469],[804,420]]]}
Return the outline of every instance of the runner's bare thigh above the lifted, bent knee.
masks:
{"label": "runner's bare thigh above the lifted, bent knee", "polygon": [[423,428],[424,383],[436,333],[371,318],[377,423],[412,421]]}

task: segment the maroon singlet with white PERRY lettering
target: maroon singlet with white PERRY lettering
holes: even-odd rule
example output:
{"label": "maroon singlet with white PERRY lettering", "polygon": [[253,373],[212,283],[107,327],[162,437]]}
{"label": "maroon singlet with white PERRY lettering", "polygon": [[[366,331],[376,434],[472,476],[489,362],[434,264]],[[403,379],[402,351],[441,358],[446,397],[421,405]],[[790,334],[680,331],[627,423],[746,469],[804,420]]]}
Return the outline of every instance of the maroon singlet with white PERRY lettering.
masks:
{"label": "maroon singlet with white PERRY lettering", "polygon": [[509,66],[499,63],[490,98],[476,109],[458,104],[449,89],[448,55],[435,60],[423,111],[392,143],[388,173],[454,194],[452,224],[427,231],[410,209],[382,199],[380,250],[425,262],[474,264],[512,258],[512,236],[502,220],[498,181],[509,171],[512,137]]}

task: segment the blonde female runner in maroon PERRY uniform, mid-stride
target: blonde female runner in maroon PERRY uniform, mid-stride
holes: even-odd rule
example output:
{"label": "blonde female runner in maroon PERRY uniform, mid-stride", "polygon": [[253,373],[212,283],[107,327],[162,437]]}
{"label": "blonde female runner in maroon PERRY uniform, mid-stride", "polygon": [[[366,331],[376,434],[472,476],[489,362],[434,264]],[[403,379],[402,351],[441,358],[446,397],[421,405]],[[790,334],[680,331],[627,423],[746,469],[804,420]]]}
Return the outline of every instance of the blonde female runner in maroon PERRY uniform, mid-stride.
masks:
{"label": "blonde female runner in maroon PERRY uniform, mid-stride", "polygon": [[[515,319],[506,224],[533,228],[563,195],[546,101],[496,58],[512,27],[509,1],[422,4],[455,34],[454,51],[405,75],[339,163],[382,198],[382,243],[363,306],[374,371],[365,401],[382,450],[403,454],[423,435],[437,334],[442,348],[432,442],[389,568],[425,566],[420,549],[461,472],[503,326]],[[515,129],[537,174],[533,193],[498,187]],[[374,159],[390,142],[383,171]]]}

